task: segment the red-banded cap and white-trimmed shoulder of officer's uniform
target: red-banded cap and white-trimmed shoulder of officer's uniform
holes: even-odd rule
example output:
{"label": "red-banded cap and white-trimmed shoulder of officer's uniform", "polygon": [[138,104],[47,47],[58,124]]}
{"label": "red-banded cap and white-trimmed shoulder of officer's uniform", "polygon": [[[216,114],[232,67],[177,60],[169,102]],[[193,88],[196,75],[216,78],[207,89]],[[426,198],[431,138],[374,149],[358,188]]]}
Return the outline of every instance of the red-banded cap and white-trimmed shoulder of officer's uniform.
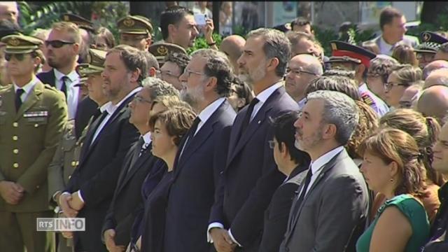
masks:
{"label": "red-banded cap and white-trimmed shoulder of officer's uniform", "polygon": [[[363,64],[368,69],[370,59],[376,57],[373,52],[344,41],[330,41],[330,45],[332,48],[332,56],[328,61],[330,63],[350,62],[353,64]],[[359,85],[358,91],[363,102],[377,112],[380,117],[389,111],[387,104],[370,91],[366,83]]]}

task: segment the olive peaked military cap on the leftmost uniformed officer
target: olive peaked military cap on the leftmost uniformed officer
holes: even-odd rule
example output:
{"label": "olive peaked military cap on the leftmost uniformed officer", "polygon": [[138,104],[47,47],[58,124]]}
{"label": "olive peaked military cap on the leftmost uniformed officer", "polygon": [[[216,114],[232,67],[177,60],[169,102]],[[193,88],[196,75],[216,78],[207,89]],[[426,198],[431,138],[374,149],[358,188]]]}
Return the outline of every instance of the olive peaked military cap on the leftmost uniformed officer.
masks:
{"label": "olive peaked military cap on the leftmost uniformed officer", "polygon": [[7,53],[29,53],[34,52],[42,45],[43,42],[31,36],[25,36],[23,34],[13,34],[1,38],[2,43],[6,43]]}

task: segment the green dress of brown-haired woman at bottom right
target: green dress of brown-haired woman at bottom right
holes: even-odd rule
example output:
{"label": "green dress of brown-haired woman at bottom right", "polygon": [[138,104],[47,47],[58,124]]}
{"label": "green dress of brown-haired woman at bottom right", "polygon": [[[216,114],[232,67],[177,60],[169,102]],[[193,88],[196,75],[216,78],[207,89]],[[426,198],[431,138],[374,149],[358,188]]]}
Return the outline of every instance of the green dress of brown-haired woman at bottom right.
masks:
{"label": "green dress of brown-haired woman at bottom right", "polygon": [[411,195],[398,195],[393,197],[391,200],[387,200],[378,209],[377,216],[375,216],[372,224],[365,230],[363,235],[361,235],[356,242],[357,252],[368,252],[370,249],[370,240],[372,239],[373,230],[381,214],[384,212],[386,207],[397,207],[400,209],[402,214],[411,223],[412,236],[409,241],[407,241],[405,252],[419,252],[421,247],[426,244],[429,239],[429,221],[426,210],[423,205],[414,199]]}

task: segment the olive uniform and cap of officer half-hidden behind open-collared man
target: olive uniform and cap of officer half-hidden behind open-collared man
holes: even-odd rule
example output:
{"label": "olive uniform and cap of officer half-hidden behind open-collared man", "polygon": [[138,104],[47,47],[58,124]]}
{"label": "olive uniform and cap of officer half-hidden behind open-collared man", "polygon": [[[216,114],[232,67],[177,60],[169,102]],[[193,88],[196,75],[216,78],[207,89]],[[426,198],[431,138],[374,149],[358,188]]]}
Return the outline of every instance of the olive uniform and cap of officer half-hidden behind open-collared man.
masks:
{"label": "olive uniform and cap of officer half-hidden behind open-collared man", "polygon": [[[87,59],[89,61],[88,64],[79,64],[76,67],[76,71],[81,79],[87,79],[88,75],[101,73],[104,70],[106,52],[90,49],[89,57],[87,57]],[[81,146],[90,123],[92,123],[92,118],[78,141],[76,141],[75,137],[74,120],[69,120],[69,122],[66,123],[64,134],[59,140],[55,156],[52,159],[50,167],[48,167],[48,200],[50,205],[55,207],[55,216],[58,216],[57,213],[59,213],[59,207],[56,207],[57,199],[55,199],[55,195],[66,188],[71,174],[73,174],[74,169],[79,163]],[[57,244],[58,252],[73,251],[73,239],[66,239],[59,233],[57,235],[57,240],[59,241]]]}

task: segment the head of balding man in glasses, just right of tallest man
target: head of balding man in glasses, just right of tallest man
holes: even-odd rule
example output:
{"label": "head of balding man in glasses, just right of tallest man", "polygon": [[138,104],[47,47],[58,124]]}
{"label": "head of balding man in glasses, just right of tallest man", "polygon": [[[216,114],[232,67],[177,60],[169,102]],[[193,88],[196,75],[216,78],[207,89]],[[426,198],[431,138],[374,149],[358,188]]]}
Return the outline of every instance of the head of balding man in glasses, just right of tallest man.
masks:
{"label": "head of balding man in glasses, just right of tallest man", "polygon": [[290,97],[299,104],[300,109],[305,104],[305,90],[309,83],[322,73],[321,62],[312,55],[301,54],[290,59],[286,69],[285,88]]}

